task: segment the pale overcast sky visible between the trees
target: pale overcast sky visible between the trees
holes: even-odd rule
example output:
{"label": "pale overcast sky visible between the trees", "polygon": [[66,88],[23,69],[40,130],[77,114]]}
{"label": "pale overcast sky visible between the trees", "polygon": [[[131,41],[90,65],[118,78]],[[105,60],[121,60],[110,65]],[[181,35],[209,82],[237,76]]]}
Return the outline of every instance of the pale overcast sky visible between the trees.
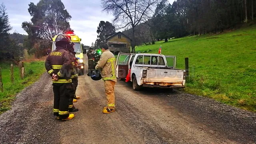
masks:
{"label": "pale overcast sky visible between the trees", "polygon": [[[31,19],[28,13],[28,4],[39,0],[0,0],[4,3],[9,16],[12,30],[10,33],[17,31],[20,34],[27,34],[21,27],[22,22]],[[100,0],[62,0],[65,8],[72,16],[70,26],[74,33],[82,38],[82,43],[90,46],[97,38],[97,27],[101,20],[112,22],[113,16],[101,12]],[[172,4],[174,0],[169,0]]]}

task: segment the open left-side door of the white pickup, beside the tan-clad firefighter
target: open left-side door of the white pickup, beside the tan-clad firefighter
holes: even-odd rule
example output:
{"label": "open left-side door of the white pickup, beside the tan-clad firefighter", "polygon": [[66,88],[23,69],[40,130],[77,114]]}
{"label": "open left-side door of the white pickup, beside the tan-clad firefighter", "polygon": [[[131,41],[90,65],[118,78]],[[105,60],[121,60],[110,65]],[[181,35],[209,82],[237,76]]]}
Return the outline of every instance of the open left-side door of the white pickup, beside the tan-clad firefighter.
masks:
{"label": "open left-side door of the white pickup, beside the tan-clad firefighter", "polygon": [[128,74],[128,66],[131,54],[129,53],[118,53],[116,60],[116,77],[117,78],[126,78]]}

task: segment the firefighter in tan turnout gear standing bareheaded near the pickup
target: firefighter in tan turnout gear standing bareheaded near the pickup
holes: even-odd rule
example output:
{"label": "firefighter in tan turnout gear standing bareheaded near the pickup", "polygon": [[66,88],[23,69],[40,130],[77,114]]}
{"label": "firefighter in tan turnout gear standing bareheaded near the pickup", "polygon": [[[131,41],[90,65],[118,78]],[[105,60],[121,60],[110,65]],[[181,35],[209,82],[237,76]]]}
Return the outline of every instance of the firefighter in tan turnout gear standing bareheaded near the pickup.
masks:
{"label": "firefighter in tan turnout gear standing bareheaded near the pickup", "polygon": [[105,94],[108,101],[108,105],[103,108],[103,113],[110,113],[115,111],[115,95],[114,86],[116,84],[116,59],[114,54],[108,50],[108,45],[104,44],[101,48],[102,55],[96,70],[101,70],[102,79],[104,81]]}

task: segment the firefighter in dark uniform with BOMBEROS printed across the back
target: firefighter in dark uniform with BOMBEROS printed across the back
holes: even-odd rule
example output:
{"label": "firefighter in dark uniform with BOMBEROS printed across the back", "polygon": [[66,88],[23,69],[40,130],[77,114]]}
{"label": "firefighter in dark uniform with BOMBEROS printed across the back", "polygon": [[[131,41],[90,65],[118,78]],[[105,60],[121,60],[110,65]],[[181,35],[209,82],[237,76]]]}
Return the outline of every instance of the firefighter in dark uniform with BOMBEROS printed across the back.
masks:
{"label": "firefighter in dark uniform with BOMBEROS printed across the back", "polygon": [[56,50],[50,52],[45,61],[45,68],[52,76],[54,92],[54,116],[61,120],[71,120],[74,114],[69,114],[68,100],[72,88],[71,71],[73,69],[73,58],[68,51],[72,46],[70,38],[58,35],[55,39]]}

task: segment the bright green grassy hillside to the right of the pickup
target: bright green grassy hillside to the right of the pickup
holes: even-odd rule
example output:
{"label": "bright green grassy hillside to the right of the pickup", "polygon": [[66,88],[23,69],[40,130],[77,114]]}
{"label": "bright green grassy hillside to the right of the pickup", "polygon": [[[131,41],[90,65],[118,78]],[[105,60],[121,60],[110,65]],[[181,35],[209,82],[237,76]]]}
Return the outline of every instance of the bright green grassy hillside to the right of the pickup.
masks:
{"label": "bright green grassy hillside to the right of the pickup", "polygon": [[213,98],[256,112],[256,26],[219,35],[191,36],[138,46],[177,56],[177,68],[184,69],[189,58],[188,93]]}

